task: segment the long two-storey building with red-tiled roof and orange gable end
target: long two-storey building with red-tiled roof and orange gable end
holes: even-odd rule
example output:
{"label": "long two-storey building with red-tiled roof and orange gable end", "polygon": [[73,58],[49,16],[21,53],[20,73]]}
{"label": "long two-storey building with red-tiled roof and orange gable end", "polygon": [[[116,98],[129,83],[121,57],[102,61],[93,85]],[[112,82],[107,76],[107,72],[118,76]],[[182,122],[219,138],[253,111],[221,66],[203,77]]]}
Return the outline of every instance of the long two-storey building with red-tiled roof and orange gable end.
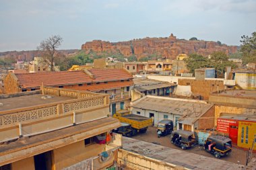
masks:
{"label": "long two-storey building with red-tiled roof and orange gable end", "polygon": [[4,79],[5,93],[34,91],[40,86],[106,93],[110,95],[110,112],[115,114],[131,101],[131,73],[125,69],[88,69],[83,71],[9,73]]}

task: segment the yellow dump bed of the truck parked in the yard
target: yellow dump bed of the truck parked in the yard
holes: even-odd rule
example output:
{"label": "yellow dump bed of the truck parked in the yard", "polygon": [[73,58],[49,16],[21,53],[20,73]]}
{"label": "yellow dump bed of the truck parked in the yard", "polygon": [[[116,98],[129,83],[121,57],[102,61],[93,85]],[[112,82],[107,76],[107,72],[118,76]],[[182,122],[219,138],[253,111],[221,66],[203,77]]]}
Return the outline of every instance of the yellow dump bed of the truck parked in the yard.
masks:
{"label": "yellow dump bed of the truck parked in the yard", "polygon": [[135,136],[137,133],[145,133],[148,126],[152,126],[152,118],[130,114],[128,110],[119,110],[113,115],[113,118],[117,118],[122,123],[130,124],[131,136]]}

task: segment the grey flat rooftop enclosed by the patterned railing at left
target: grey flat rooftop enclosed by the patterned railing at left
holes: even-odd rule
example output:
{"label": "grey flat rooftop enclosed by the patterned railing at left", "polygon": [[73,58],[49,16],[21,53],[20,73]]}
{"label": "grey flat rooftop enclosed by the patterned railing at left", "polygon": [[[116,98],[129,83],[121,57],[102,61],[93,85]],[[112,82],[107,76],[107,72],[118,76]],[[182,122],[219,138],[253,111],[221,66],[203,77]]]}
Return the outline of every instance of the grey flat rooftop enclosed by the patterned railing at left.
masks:
{"label": "grey flat rooftop enclosed by the patterned railing at left", "polygon": [[42,105],[47,103],[55,103],[59,101],[67,101],[71,99],[74,99],[74,98],[65,97],[65,96],[55,96],[55,95],[42,95],[42,94],[9,97],[6,99],[0,99],[0,103],[3,104],[3,105],[0,105],[0,112],[5,110],[18,109],[18,108],[27,108],[34,105]]}

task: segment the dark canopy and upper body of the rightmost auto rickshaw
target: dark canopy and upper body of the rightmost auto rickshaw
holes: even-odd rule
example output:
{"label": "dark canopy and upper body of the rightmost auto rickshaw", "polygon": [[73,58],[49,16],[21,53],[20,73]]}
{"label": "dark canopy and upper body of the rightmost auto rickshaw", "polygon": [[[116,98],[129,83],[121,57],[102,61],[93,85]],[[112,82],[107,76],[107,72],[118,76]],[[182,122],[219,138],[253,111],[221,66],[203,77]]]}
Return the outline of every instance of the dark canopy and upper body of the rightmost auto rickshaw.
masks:
{"label": "dark canopy and upper body of the rightmost auto rickshaw", "polygon": [[224,136],[210,136],[207,140],[207,145],[213,144],[215,148],[220,151],[226,151],[232,148],[232,142],[230,138],[226,138]]}

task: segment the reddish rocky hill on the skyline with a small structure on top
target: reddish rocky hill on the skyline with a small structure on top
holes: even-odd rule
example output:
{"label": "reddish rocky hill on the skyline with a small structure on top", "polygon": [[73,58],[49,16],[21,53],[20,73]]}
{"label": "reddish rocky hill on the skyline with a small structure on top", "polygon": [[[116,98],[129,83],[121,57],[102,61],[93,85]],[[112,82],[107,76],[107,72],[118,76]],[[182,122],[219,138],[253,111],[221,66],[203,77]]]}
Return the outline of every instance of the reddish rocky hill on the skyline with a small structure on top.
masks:
{"label": "reddish rocky hill on the skyline with a small structure on top", "polygon": [[197,52],[203,56],[212,54],[215,51],[223,51],[226,54],[233,54],[237,46],[227,46],[213,41],[204,40],[181,40],[172,34],[166,38],[142,38],[126,42],[106,42],[93,40],[82,44],[82,50],[87,52],[120,52],[123,56],[135,55],[142,58],[151,54],[157,54],[165,58],[174,59],[178,54],[191,54]]}

